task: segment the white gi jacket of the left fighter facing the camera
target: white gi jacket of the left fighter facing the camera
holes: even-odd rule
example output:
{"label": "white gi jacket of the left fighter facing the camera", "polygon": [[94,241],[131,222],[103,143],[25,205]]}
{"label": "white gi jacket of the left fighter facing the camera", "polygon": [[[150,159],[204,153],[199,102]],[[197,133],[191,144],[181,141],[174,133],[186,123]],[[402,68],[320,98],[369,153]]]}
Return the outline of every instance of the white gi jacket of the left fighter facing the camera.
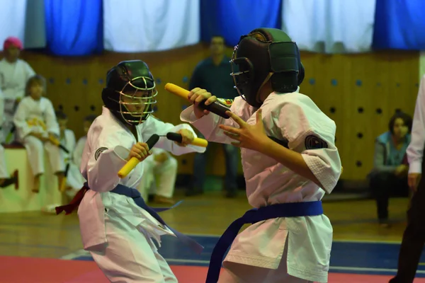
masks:
{"label": "white gi jacket of the left fighter facing the camera", "polygon": [[[174,126],[152,116],[136,128],[140,142],[147,141],[152,134],[164,135],[167,132],[178,132],[179,129],[189,129],[193,132],[189,125]],[[195,132],[193,135],[196,137]],[[135,188],[142,180],[143,162],[140,162],[126,178],[118,177],[118,171],[127,162],[125,158],[135,143],[136,139],[130,130],[103,107],[102,115],[91,124],[81,156],[80,170],[91,188],[84,195],[78,209],[81,238],[86,250],[96,249],[96,246],[107,242],[104,214],[105,210],[109,209],[120,214],[123,217],[122,221],[128,221],[135,227],[142,227],[158,243],[160,235],[174,235],[168,228],[163,229],[148,212],[138,207],[132,198],[109,192],[118,184]],[[160,137],[155,146],[176,155],[205,151],[205,148],[199,146],[178,146],[166,137]]]}

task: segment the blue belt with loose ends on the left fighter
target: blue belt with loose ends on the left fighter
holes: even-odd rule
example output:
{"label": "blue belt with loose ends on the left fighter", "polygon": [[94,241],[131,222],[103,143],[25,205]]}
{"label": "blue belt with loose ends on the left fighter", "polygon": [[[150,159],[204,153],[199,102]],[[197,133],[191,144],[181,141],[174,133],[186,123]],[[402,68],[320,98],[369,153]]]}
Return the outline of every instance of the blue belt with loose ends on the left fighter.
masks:
{"label": "blue belt with loose ends on the left fighter", "polygon": [[[84,186],[89,187],[87,183],[85,183]],[[141,207],[142,209],[145,209],[150,215],[152,215],[152,217],[154,217],[154,219],[157,219],[157,221],[159,223],[161,223],[163,226],[166,226],[171,231],[173,231],[173,233],[176,235],[176,237],[179,239],[179,241],[186,244],[189,248],[194,250],[196,253],[202,252],[203,246],[200,246],[199,243],[197,243],[192,238],[186,236],[185,234],[180,233],[179,231],[172,229],[170,226],[168,226],[165,223],[165,221],[161,218],[161,216],[159,216],[157,214],[157,212],[164,212],[168,209],[171,209],[171,208],[178,206],[179,204],[181,204],[182,201],[177,202],[172,207],[153,208],[153,207],[149,207],[146,204],[145,200],[143,200],[143,197],[142,197],[142,195],[140,195],[140,192],[136,189],[133,189],[132,187],[127,187],[125,185],[118,184],[113,190],[111,190],[111,192],[114,192],[115,194],[118,194],[118,195],[125,195],[126,197],[131,197],[135,201],[137,206]]]}

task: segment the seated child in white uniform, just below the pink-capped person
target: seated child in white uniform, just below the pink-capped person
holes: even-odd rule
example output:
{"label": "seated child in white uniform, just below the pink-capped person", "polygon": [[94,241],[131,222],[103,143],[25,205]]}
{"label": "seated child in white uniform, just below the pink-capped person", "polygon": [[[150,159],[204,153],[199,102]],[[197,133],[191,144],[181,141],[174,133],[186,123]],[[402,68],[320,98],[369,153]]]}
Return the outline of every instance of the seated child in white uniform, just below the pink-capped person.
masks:
{"label": "seated child in white uniform, just below the pink-capped person", "polygon": [[65,163],[60,148],[52,142],[59,139],[60,129],[52,102],[42,96],[45,93],[45,79],[40,75],[31,77],[26,86],[26,93],[28,96],[19,103],[13,123],[16,126],[18,141],[27,150],[34,176],[33,192],[39,192],[40,176],[45,173],[45,151],[52,172],[57,175],[61,187]]}

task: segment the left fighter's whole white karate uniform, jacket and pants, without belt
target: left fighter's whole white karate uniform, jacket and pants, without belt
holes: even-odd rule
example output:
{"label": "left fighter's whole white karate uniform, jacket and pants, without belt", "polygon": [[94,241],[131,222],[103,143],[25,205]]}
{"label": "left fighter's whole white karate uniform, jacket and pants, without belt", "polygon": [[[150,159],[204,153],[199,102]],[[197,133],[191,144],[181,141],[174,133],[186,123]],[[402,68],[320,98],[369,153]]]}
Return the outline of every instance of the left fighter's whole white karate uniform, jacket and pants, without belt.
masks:
{"label": "left fighter's whole white karate uniform, jacket and pants, without belt", "polygon": [[[193,132],[189,125],[174,126],[152,116],[136,129],[140,142],[147,141],[152,134],[179,129]],[[81,158],[81,173],[91,189],[78,209],[84,249],[90,251],[111,282],[177,282],[152,241],[153,238],[160,244],[161,235],[174,233],[137,206],[132,198],[110,192],[118,184],[137,187],[144,178],[144,162],[138,163],[126,178],[118,178],[118,171],[135,143],[130,130],[103,107],[102,115],[89,129]],[[205,151],[198,146],[178,146],[165,137],[155,146],[176,155]]]}

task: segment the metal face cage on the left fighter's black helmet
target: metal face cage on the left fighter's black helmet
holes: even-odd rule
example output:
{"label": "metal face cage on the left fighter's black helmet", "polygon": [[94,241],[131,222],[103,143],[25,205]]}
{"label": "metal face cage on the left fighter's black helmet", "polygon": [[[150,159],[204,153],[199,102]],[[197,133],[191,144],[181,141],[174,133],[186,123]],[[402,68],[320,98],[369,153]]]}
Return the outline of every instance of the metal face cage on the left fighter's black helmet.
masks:
{"label": "metal face cage on the left fighter's black helmet", "polygon": [[[145,86],[147,86],[147,80],[152,81],[154,86],[152,86],[152,88],[139,88],[132,84],[132,81],[135,81],[137,79],[142,79],[145,83]],[[155,88],[156,87],[155,82],[152,79],[147,78],[145,76],[138,76],[137,78],[132,79],[132,81],[129,81],[127,84],[125,84],[125,86],[123,87],[121,91],[117,91],[118,93],[120,93],[120,113],[121,113],[121,117],[123,117],[123,120],[127,122],[128,124],[139,125],[142,122],[145,122],[147,120],[147,117],[149,117],[149,115],[151,115],[154,112],[152,106],[157,103],[157,100],[155,100],[154,98],[155,96],[157,96],[158,91]],[[135,89],[132,95],[129,95],[123,92],[128,85],[132,86],[132,88]],[[147,94],[144,94],[144,96],[141,96],[141,97],[135,96],[138,91],[147,92]],[[129,100],[129,102],[123,101],[123,98],[125,98],[125,100]],[[140,109],[142,111],[131,111],[128,109],[129,105],[132,105],[132,106],[140,105],[141,106]]]}

